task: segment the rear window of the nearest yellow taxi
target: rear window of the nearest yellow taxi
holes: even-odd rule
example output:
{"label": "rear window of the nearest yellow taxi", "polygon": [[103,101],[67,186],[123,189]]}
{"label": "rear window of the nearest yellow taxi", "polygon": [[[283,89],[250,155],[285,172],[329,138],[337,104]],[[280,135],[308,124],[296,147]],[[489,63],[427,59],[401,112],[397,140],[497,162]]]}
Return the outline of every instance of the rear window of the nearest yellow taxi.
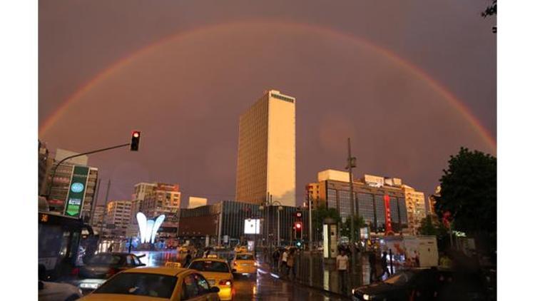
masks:
{"label": "rear window of the nearest yellow taxi", "polygon": [[177,278],[141,272],[123,272],[106,281],[95,294],[120,294],[169,299]]}

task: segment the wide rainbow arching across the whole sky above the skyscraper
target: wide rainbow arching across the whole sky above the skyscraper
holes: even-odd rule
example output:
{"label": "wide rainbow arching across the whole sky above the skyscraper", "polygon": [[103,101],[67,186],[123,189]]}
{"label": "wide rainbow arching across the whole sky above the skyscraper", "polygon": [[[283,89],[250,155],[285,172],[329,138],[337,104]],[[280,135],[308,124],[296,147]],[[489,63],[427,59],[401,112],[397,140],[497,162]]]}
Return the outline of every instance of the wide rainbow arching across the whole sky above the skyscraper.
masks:
{"label": "wide rainbow arching across the whole sky above the skyscraper", "polygon": [[442,86],[439,82],[435,81],[434,78],[429,76],[425,71],[423,71],[418,66],[415,66],[412,63],[409,63],[408,61],[400,58],[397,56],[397,54],[393,53],[392,51],[389,51],[388,49],[384,49],[381,46],[377,46],[376,44],[372,44],[370,41],[367,41],[365,39],[362,39],[357,36],[353,36],[352,34],[347,34],[342,31],[335,31],[334,29],[325,28],[317,25],[312,24],[301,24],[296,22],[290,22],[290,21],[278,21],[278,20],[254,20],[254,21],[239,21],[239,22],[230,22],[230,23],[223,23],[223,24],[215,24],[210,26],[203,26],[196,29],[190,29],[189,31],[183,31],[178,34],[173,34],[171,36],[168,36],[164,39],[161,39],[160,41],[157,41],[156,43],[153,43],[149,46],[146,46],[142,49],[139,49],[138,51],[134,51],[133,53],[129,54],[128,56],[121,58],[120,60],[113,63],[111,66],[106,68],[101,73],[98,73],[95,77],[91,79],[91,81],[88,81],[85,85],[81,86],[81,88],[78,88],[78,90],[73,93],[69,98],[66,99],[66,101],[63,102],[63,104],[49,117],[46,119],[46,121],[43,123],[41,128],[39,129],[39,136],[46,133],[46,131],[49,131],[51,126],[58,121],[61,116],[63,116],[66,111],[68,111],[69,106],[71,103],[75,102],[78,98],[80,98],[84,93],[87,93],[88,91],[91,91],[91,89],[96,86],[98,83],[101,83],[102,81],[105,81],[106,78],[111,76],[114,72],[120,70],[124,66],[128,66],[129,63],[132,63],[136,60],[136,58],[143,56],[145,53],[149,53],[153,51],[154,49],[157,49],[160,46],[163,46],[164,44],[174,41],[175,39],[184,39],[188,36],[193,36],[196,34],[203,34],[207,31],[213,30],[213,29],[225,29],[225,28],[232,28],[235,26],[254,26],[254,25],[267,25],[267,26],[283,26],[287,27],[288,29],[300,29],[304,31],[313,31],[315,34],[318,35],[327,35],[332,36],[337,39],[345,39],[348,41],[351,41],[352,43],[358,44],[359,46],[364,46],[367,49],[370,49],[372,51],[375,51],[376,53],[381,54],[382,56],[388,58],[389,60],[393,61],[394,63],[397,63],[398,66],[401,66],[406,71],[409,71],[417,78],[421,78],[424,82],[426,82],[429,87],[434,89],[434,91],[437,91],[440,95],[442,95],[453,108],[462,116],[469,121],[469,123],[472,125],[472,127],[484,138],[484,141],[488,144],[488,146],[496,151],[496,140],[493,138],[491,133],[481,125],[481,122],[474,116],[474,114],[469,110],[469,108],[459,100],[459,98],[455,97],[453,93],[448,91],[447,88]]}

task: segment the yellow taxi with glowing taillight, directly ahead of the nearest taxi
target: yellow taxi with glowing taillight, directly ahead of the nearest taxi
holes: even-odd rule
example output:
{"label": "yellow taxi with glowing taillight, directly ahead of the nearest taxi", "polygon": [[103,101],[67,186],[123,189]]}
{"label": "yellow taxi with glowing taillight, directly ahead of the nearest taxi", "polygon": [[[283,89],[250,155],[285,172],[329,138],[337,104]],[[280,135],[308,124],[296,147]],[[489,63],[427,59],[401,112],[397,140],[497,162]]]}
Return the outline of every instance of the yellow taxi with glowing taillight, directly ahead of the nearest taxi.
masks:
{"label": "yellow taxi with glowing taillight, directly ahead of the nearest taxi", "polygon": [[197,270],[202,274],[210,286],[219,287],[221,300],[233,300],[233,270],[230,270],[227,260],[208,255],[208,258],[193,260],[188,268]]}

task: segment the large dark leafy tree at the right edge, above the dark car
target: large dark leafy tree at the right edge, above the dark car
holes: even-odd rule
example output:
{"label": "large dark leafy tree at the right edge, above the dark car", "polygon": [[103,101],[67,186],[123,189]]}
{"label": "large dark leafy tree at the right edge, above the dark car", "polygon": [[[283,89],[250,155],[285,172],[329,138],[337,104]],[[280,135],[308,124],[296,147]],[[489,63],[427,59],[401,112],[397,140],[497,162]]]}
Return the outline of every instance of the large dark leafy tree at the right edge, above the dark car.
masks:
{"label": "large dark leafy tree at the right edge, above the dark car", "polygon": [[[437,214],[442,217],[449,213],[457,230],[495,240],[496,158],[461,148],[457,155],[450,156],[448,163],[440,178]],[[494,241],[489,247],[496,250]]]}

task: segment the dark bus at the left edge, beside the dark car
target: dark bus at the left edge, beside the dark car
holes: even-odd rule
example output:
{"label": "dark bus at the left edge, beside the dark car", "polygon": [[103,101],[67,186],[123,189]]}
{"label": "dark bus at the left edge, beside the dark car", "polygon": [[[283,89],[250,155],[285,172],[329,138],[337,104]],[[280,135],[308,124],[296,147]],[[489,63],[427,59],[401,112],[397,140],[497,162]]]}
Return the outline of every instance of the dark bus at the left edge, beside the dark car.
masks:
{"label": "dark bus at the left edge, beside the dark car", "polygon": [[[39,212],[39,270],[43,280],[66,280],[80,265],[80,247],[96,250],[93,228],[81,218],[71,218],[59,213]],[[94,251],[93,251],[94,252]]]}

